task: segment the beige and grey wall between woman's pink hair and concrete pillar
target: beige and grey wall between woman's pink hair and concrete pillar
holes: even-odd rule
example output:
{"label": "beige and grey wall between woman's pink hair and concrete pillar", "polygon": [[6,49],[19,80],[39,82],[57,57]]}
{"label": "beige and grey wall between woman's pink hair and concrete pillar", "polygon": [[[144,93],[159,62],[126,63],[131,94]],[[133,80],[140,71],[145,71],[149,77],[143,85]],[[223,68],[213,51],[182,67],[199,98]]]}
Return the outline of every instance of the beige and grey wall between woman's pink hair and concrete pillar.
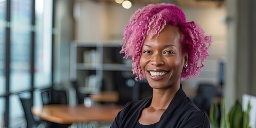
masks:
{"label": "beige and grey wall between woman's pink hair and concrete pillar", "polygon": [[[209,48],[209,57],[206,59],[205,66],[196,78],[188,79],[183,82],[184,90],[196,91],[197,85],[201,82],[219,84],[219,62],[227,59],[227,26],[226,10],[222,7],[197,7],[182,8],[185,12],[187,21],[195,21],[201,26],[205,35],[212,36],[212,45]],[[193,96],[193,94],[191,94]]]}

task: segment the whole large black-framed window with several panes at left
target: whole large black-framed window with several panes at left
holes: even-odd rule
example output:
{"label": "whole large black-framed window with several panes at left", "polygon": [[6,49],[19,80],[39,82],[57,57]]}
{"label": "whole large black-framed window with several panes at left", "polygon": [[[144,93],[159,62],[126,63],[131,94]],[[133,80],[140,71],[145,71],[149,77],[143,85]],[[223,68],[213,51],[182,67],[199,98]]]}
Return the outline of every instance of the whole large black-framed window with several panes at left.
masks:
{"label": "whole large black-framed window with several panes at left", "polygon": [[52,86],[52,5],[0,0],[0,127],[26,127],[19,95],[39,101],[41,89]]}

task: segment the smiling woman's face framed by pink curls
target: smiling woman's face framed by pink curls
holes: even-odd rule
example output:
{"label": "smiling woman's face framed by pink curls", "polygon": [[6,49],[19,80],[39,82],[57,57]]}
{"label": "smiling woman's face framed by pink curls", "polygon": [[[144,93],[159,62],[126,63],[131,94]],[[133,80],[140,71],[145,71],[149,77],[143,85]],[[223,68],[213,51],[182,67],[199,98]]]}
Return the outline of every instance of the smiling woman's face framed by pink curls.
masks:
{"label": "smiling woman's face framed by pink curls", "polygon": [[187,54],[182,53],[182,34],[178,27],[166,25],[159,36],[146,38],[142,46],[140,66],[153,89],[180,85],[180,76]]}

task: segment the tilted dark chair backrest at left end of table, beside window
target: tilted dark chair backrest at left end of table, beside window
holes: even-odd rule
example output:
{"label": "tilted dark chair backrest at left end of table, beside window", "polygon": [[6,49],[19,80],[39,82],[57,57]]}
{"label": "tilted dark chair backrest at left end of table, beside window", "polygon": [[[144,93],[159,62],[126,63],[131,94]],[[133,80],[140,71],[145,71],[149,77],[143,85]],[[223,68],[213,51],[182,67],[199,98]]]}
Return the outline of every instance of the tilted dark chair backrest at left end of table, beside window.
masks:
{"label": "tilted dark chair backrest at left end of table, beside window", "polygon": [[36,125],[34,116],[31,112],[32,102],[31,99],[21,98],[20,101],[25,113],[26,121],[27,121],[27,128],[34,127]]}

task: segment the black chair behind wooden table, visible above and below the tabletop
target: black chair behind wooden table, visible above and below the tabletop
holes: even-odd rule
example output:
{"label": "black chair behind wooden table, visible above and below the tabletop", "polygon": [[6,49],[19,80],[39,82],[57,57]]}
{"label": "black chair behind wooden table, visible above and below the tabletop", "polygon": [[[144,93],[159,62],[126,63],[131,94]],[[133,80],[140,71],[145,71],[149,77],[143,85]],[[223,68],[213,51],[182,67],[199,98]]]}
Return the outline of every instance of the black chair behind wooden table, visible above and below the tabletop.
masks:
{"label": "black chair behind wooden table, visible above and below the tabletop", "polygon": [[[43,105],[68,105],[66,91],[62,90],[45,90],[41,92]],[[71,124],[58,124],[53,122],[47,122],[47,127],[54,128],[67,128]]]}

